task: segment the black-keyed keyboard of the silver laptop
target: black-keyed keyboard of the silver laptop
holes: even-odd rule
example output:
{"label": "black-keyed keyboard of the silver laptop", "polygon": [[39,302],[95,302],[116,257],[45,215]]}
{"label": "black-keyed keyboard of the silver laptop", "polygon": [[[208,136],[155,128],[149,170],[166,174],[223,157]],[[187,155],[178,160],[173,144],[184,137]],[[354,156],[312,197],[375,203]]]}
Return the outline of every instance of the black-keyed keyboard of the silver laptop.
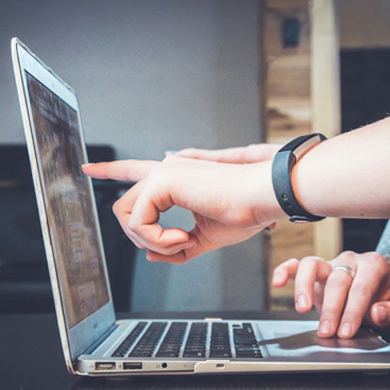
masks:
{"label": "black-keyed keyboard of the silver laptop", "polygon": [[[112,356],[245,359],[263,357],[250,323],[230,325],[231,337],[229,324],[222,322],[195,322],[191,323],[189,330],[188,323],[173,322],[167,330],[167,322],[155,321],[143,332],[146,325],[145,321],[138,323]],[[164,339],[160,344],[163,334]]]}

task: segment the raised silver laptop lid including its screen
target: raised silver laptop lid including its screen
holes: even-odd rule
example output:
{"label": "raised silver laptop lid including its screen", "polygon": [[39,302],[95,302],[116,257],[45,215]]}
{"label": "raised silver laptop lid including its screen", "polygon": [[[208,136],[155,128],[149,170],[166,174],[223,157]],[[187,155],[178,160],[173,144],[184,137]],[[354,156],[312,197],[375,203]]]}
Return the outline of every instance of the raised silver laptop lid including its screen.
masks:
{"label": "raised silver laptop lid including its screen", "polygon": [[115,322],[74,91],[18,39],[13,67],[65,360]]}

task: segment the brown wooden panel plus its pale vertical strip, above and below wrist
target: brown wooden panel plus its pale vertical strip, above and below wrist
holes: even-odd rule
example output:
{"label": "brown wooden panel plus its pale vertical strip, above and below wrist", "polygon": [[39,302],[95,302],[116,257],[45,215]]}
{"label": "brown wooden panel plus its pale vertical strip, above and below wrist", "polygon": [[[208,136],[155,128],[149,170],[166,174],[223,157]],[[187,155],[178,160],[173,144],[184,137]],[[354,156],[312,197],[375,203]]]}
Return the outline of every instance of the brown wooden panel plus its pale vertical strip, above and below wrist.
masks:
{"label": "brown wooden panel plus its pale vertical strip, above and below wrist", "polygon": [[[268,143],[287,143],[312,131],[328,137],[338,134],[339,52],[334,1],[264,0],[261,4],[264,138]],[[292,18],[299,20],[299,44],[285,47],[283,21]],[[269,243],[269,276],[275,266],[292,257],[330,259],[340,250],[340,242],[336,219],[306,225],[280,221]],[[271,289],[271,301],[292,294],[292,283],[282,290]]]}

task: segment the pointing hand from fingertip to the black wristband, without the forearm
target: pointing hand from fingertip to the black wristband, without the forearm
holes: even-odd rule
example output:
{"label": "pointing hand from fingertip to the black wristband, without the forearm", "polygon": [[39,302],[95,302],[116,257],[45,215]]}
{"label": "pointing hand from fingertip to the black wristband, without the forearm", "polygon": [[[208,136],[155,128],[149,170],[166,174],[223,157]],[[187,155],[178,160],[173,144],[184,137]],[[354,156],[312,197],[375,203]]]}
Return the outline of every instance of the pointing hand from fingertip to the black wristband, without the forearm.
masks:
{"label": "pointing hand from fingertip to the black wristband, without the forearm", "polygon": [[[247,240],[272,225],[275,215],[284,215],[272,192],[269,164],[225,164],[172,156],[163,162],[91,164],[83,170],[96,178],[138,180],[113,206],[119,223],[137,247],[148,248],[150,261],[182,264],[204,252]],[[252,180],[258,174],[268,175],[267,185]],[[270,199],[264,209],[256,207],[259,194]],[[158,225],[160,212],[174,204],[193,212],[193,230],[163,230]]]}

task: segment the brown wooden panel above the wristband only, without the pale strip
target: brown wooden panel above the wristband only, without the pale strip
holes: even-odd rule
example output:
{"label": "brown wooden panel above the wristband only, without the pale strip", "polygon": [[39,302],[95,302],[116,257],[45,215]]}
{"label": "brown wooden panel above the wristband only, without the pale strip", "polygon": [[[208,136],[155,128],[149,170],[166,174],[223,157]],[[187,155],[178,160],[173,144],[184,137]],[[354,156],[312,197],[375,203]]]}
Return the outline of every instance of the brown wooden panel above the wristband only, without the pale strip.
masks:
{"label": "brown wooden panel above the wristband only, without the pale strip", "polygon": [[[262,1],[262,67],[266,141],[285,143],[311,132],[308,0]],[[299,44],[284,47],[283,20],[299,20]]]}

